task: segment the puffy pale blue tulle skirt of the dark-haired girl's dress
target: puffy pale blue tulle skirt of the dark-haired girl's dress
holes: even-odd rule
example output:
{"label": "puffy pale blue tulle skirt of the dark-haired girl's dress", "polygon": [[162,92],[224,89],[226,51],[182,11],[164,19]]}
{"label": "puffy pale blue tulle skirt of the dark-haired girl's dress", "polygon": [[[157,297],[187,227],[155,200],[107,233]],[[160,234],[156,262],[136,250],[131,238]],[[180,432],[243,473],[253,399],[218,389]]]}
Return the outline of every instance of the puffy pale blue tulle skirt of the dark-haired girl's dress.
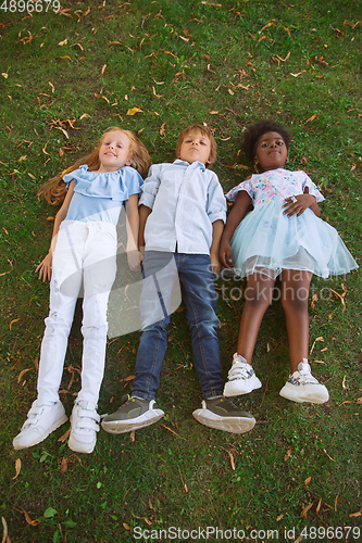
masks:
{"label": "puffy pale blue tulle skirt of the dark-haired girl's dress", "polygon": [[283,204],[257,206],[236,228],[230,247],[237,275],[275,278],[283,269],[301,269],[326,278],[358,268],[335,228],[311,210],[287,217]]}

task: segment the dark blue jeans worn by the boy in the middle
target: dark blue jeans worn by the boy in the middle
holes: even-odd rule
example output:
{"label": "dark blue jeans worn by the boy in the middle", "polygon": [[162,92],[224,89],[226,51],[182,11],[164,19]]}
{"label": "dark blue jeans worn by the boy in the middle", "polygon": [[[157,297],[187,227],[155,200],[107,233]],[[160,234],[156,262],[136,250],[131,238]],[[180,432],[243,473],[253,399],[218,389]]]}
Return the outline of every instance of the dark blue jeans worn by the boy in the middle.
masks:
{"label": "dark blue jeans worn by the boy in the middle", "polygon": [[[191,331],[192,358],[198,374],[202,396],[213,397],[223,394],[224,381],[220,362],[217,339],[219,318],[216,317],[216,294],[210,256],[207,254],[160,253],[146,251],[143,276],[155,278],[166,263],[174,258],[178,274],[180,292],[186,305],[188,326]],[[164,298],[164,289],[161,286]],[[160,304],[161,293],[154,291],[153,306]],[[143,292],[142,292],[143,293]],[[149,302],[149,301],[148,301]],[[136,358],[136,377],[132,394],[153,400],[160,384],[160,371],[167,345],[167,326],[171,315],[165,310],[170,301],[163,300],[164,318],[141,328]],[[150,306],[150,304],[148,304]],[[147,323],[145,307],[140,301],[142,319]]]}

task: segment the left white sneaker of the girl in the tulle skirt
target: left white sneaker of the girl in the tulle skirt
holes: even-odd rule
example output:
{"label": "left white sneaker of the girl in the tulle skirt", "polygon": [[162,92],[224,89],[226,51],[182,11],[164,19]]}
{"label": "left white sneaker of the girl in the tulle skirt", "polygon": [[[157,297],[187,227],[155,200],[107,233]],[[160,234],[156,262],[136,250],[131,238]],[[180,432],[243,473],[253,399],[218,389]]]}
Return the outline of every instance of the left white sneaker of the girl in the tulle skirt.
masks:
{"label": "left white sneaker of the girl in the tulle skirt", "polygon": [[235,353],[233,366],[225,383],[224,396],[249,394],[252,390],[260,389],[262,383],[255,376],[252,366],[242,356]]}

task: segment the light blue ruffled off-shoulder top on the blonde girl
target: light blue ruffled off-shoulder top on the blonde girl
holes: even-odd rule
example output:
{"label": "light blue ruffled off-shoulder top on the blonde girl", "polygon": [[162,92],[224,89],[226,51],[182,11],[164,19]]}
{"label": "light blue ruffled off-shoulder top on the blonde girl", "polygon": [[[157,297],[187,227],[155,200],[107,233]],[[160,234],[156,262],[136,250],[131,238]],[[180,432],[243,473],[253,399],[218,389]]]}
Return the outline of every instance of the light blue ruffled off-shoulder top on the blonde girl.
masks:
{"label": "light blue ruffled off-shoulder top on the blonde girl", "polygon": [[74,179],[74,194],[66,219],[105,222],[117,224],[123,202],[132,194],[139,194],[143,179],[139,173],[124,166],[116,172],[89,172],[85,164],[65,174],[64,182]]}

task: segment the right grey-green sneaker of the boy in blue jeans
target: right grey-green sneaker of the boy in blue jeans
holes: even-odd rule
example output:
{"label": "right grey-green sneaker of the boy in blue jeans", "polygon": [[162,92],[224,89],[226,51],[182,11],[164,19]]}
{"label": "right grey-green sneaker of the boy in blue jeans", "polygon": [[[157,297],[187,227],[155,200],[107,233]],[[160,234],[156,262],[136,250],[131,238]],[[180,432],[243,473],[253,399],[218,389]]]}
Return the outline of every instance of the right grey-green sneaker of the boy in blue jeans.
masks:
{"label": "right grey-green sneaker of the boy in blue jeans", "polygon": [[201,408],[196,409],[192,415],[201,425],[225,432],[244,433],[255,426],[255,419],[250,413],[240,411],[225,396],[202,400]]}

